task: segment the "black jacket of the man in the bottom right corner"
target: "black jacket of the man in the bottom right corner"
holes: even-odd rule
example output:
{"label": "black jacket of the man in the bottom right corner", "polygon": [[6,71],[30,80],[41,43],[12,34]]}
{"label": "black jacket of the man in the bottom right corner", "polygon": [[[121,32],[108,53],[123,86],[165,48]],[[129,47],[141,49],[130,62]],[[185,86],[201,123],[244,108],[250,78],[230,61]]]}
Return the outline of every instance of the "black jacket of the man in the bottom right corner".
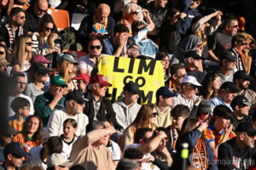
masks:
{"label": "black jacket of the man in the bottom right corner", "polygon": [[253,155],[256,153],[256,145],[253,148],[239,150],[236,147],[236,138],[230,139],[218,147],[218,169],[247,169],[250,162],[253,163]]}

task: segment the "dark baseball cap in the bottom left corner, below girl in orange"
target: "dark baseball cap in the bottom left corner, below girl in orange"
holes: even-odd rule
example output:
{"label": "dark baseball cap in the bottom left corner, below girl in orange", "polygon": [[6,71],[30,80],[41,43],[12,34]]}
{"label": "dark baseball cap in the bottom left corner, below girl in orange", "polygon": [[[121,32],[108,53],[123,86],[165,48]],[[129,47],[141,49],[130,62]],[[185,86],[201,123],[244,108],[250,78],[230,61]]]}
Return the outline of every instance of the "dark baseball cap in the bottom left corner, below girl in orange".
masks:
{"label": "dark baseball cap in the bottom left corner, below girl in orange", "polygon": [[26,151],[22,150],[20,147],[20,144],[11,142],[5,146],[3,149],[4,156],[7,156],[8,154],[11,154],[13,156],[23,157],[27,156]]}

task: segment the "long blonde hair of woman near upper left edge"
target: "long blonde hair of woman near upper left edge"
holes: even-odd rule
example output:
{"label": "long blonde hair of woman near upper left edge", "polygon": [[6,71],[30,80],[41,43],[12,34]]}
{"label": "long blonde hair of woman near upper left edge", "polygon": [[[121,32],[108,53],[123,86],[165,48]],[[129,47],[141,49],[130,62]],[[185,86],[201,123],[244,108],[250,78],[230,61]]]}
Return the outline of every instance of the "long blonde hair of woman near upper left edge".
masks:
{"label": "long blonde hair of woman near upper left edge", "polygon": [[[9,57],[9,62],[12,62],[13,59],[15,59],[15,57],[18,58],[18,62],[19,62],[19,65],[20,65],[20,70],[23,69],[23,65],[24,65],[24,56],[25,56],[25,48],[26,48],[26,41],[28,39],[31,39],[32,40],[32,37],[30,36],[25,36],[25,35],[22,35],[20,37],[18,37],[18,39],[16,40],[15,42],[15,47],[12,51],[12,53],[10,54],[10,57]],[[32,52],[27,52],[27,60],[30,61],[30,59],[32,58]]]}

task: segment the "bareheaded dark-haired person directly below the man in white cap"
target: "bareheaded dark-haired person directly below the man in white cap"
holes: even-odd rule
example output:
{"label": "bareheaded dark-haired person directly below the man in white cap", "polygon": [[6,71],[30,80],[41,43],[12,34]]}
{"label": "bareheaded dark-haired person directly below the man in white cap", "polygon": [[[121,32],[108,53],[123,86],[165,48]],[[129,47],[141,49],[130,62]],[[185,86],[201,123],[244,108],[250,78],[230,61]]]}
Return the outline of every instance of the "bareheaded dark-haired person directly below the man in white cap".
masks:
{"label": "bareheaded dark-haired person directly below the man in white cap", "polygon": [[178,133],[181,132],[183,121],[187,117],[189,117],[189,115],[190,115],[190,111],[187,105],[176,105],[171,111],[172,125],[167,127],[172,137],[171,148],[168,148],[171,154],[176,153],[176,143],[177,143]]}

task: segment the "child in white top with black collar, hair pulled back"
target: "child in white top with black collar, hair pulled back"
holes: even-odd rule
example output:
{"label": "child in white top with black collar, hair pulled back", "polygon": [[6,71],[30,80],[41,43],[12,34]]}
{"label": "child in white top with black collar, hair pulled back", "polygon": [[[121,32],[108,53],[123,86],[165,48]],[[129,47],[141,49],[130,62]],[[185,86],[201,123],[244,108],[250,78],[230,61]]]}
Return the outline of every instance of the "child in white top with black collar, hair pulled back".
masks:
{"label": "child in white top with black collar, hair pulled back", "polygon": [[62,139],[62,155],[67,156],[69,158],[73,143],[78,139],[75,135],[77,131],[78,124],[74,119],[66,119],[63,122],[63,134],[61,134]]}

